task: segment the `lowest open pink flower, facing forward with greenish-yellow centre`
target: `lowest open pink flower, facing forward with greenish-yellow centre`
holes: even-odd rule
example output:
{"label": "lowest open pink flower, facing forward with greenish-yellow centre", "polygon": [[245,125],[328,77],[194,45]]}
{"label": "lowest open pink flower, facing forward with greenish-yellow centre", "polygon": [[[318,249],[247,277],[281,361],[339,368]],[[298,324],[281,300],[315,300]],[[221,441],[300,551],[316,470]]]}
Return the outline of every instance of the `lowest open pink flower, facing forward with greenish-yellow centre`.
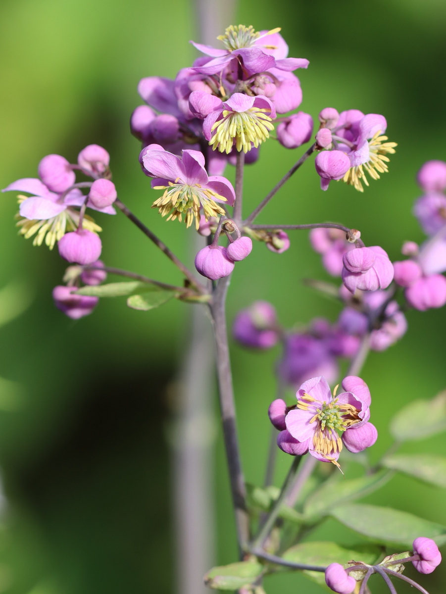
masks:
{"label": "lowest open pink flower, facing forward with greenish-yellow centre", "polygon": [[351,391],[331,395],[324,377],[305,381],[296,393],[297,408],[286,415],[286,428],[321,462],[336,462],[342,449],[338,431],[352,431],[370,418],[369,406]]}

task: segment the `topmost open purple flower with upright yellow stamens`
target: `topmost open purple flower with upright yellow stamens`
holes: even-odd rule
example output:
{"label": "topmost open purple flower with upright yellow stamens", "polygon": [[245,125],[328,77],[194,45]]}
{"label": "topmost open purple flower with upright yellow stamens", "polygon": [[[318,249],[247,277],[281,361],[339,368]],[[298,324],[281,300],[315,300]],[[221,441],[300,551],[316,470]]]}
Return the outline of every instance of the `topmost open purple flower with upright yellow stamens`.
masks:
{"label": "topmost open purple flower with upright yellow stamens", "polygon": [[[217,49],[201,43],[191,42],[200,52],[213,59],[195,67],[201,74],[219,74],[224,69],[241,69],[243,80],[270,68],[293,71],[307,68],[308,60],[286,58],[288,47],[279,35],[280,29],[255,31],[252,26],[227,27],[224,35],[217,37],[225,49]],[[233,67],[233,62],[236,66]]]}

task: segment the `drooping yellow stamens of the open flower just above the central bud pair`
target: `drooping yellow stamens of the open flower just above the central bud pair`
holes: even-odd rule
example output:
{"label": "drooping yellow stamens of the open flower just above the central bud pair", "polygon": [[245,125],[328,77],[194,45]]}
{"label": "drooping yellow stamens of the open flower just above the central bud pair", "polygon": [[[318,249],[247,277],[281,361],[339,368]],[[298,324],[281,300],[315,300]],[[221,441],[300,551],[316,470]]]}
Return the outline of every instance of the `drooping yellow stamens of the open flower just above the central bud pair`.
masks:
{"label": "drooping yellow stamens of the open flower just above the central bud pair", "polygon": [[200,184],[190,186],[178,183],[177,179],[175,183],[169,182],[168,186],[155,186],[153,189],[163,189],[164,194],[154,201],[152,208],[158,208],[158,212],[163,217],[168,214],[167,220],[178,219],[181,222],[184,214],[186,227],[190,227],[195,218],[195,228],[198,229],[201,207],[206,220],[224,214],[224,209],[214,198],[224,202],[226,198],[209,188],[201,188]]}

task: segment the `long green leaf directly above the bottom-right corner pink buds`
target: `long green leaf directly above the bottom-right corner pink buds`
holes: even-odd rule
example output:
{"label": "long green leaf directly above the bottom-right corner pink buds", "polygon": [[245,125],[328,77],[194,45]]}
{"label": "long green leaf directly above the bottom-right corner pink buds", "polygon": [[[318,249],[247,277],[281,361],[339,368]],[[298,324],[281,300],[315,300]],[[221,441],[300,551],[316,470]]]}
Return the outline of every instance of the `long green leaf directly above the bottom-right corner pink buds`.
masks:
{"label": "long green leaf directly above the bottom-right corner pink buds", "polygon": [[410,548],[417,536],[432,538],[436,544],[446,542],[446,527],[406,511],[368,504],[340,505],[330,515],[345,526],[373,541]]}

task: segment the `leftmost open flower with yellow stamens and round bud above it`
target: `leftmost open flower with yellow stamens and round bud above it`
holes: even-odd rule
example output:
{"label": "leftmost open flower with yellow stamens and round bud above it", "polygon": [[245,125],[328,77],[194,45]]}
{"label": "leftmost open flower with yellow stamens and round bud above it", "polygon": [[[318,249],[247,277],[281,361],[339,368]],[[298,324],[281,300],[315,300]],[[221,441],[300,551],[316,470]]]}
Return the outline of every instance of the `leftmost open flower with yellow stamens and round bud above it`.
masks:
{"label": "leftmost open flower with yellow stamens and round bud above it", "polygon": [[[88,147],[84,151],[87,149]],[[17,179],[2,191],[31,194],[29,197],[18,195],[21,218],[17,226],[20,227],[20,234],[26,239],[36,234],[33,245],[42,245],[45,239],[45,244],[52,249],[66,232],[78,228],[80,213],[75,207],[82,206],[87,197],[79,188],[72,188],[75,181],[74,172],[67,159],[61,155],[43,157],[39,163],[39,175],[42,181],[37,178]],[[87,206],[107,214],[116,212],[112,206],[98,208],[90,200],[87,201]],[[88,216],[84,216],[83,227],[93,232],[102,230]]]}

